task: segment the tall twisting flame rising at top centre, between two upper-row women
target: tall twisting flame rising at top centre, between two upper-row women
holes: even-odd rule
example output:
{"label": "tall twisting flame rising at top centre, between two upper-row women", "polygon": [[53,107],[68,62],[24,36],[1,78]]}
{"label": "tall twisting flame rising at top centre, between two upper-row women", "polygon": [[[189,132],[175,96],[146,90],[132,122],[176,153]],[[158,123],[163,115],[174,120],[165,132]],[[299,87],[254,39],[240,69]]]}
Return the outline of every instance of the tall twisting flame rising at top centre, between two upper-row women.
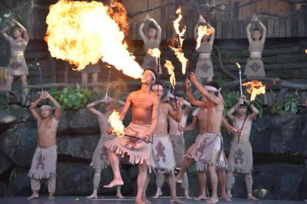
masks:
{"label": "tall twisting flame rising at top centre, between two upper-row women", "polygon": [[[181,15],[181,8],[179,7],[176,11],[176,14],[179,15],[178,18],[173,22],[174,24],[174,29],[176,31],[176,33],[178,34],[179,36],[179,41],[180,41],[180,44],[182,45],[183,43],[183,39],[182,37],[184,36],[184,33],[186,31],[186,26],[184,27],[184,29],[180,32],[179,31],[179,22],[180,20],[182,19],[182,15]],[[176,55],[176,57],[179,59],[179,61],[181,62],[181,65],[182,65],[182,73],[185,74],[186,73],[186,69],[187,69],[187,59],[184,57],[184,53],[182,52],[182,48],[174,48],[172,46],[170,46],[170,48],[172,50],[174,50],[174,53]]]}

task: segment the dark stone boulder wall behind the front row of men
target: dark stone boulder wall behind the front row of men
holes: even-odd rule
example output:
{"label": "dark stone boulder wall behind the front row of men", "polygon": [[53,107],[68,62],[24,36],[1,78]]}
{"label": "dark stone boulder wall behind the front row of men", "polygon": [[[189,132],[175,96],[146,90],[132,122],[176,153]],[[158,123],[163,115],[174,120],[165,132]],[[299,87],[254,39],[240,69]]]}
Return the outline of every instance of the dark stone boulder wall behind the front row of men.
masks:
{"label": "dark stone boulder wall behind the front row of men", "polygon": [[[124,123],[128,124],[130,113]],[[189,117],[188,123],[191,122]],[[294,131],[295,130],[295,131]],[[186,147],[198,130],[185,133]],[[27,196],[31,193],[27,173],[37,145],[37,125],[28,109],[11,105],[0,110],[0,195]],[[254,156],[254,194],[261,199],[302,200],[307,194],[307,117],[302,115],[264,115],[253,122],[251,143]],[[231,136],[223,133],[228,155]],[[60,119],[57,134],[58,166],[56,195],[89,195],[94,170],[89,167],[99,140],[98,120],[87,110],[68,112]],[[136,195],[138,167],[121,161],[124,195]],[[200,193],[194,166],[188,170],[190,195]],[[246,198],[244,175],[235,175],[233,195]],[[116,189],[103,189],[113,178],[111,169],[102,171],[99,194],[114,195]],[[209,179],[208,179],[209,180]],[[156,192],[155,174],[150,175],[147,195]],[[16,185],[18,184],[18,185]],[[130,185],[128,185],[130,184]],[[207,184],[209,191],[210,184]],[[162,187],[169,195],[166,183]],[[220,193],[220,191],[218,191]],[[42,182],[41,193],[47,193]],[[178,185],[178,194],[183,189]]]}

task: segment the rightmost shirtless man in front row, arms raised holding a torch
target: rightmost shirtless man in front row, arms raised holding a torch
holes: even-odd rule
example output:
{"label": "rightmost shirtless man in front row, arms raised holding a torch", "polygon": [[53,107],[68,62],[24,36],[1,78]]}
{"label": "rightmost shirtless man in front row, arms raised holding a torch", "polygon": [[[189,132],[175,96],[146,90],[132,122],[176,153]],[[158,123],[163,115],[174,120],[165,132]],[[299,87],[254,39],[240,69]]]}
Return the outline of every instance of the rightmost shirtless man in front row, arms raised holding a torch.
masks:
{"label": "rightmost shirtless man in front row, arms raised holding a torch", "polygon": [[[227,113],[227,117],[232,121],[235,129],[241,129],[243,122],[247,117],[243,127],[244,134],[241,137],[234,135],[234,140],[231,142],[227,167],[227,195],[230,198],[232,197],[231,188],[234,184],[233,172],[245,173],[247,199],[258,200],[252,195],[253,150],[251,143],[249,142],[252,122],[253,119],[257,117],[258,110],[251,104],[253,113],[246,116],[247,107],[249,105],[250,102],[247,101],[245,95],[241,95],[236,105],[234,105],[234,107],[232,107]],[[237,111],[237,117],[232,115],[234,111]]]}

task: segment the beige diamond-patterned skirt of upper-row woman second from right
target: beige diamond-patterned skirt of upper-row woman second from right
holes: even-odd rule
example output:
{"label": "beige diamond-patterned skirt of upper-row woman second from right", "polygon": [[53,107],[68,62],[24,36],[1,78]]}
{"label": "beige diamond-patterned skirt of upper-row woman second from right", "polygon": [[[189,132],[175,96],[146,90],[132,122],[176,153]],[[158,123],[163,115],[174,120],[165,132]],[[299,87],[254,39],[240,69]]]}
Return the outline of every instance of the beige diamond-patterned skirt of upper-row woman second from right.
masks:
{"label": "beige diamond-patterned skirt of upper-row woman second from right", "polygon": [[213,66],[211,58],[199,58],[196,63],[195,76],[197,78],[213,77]]}

